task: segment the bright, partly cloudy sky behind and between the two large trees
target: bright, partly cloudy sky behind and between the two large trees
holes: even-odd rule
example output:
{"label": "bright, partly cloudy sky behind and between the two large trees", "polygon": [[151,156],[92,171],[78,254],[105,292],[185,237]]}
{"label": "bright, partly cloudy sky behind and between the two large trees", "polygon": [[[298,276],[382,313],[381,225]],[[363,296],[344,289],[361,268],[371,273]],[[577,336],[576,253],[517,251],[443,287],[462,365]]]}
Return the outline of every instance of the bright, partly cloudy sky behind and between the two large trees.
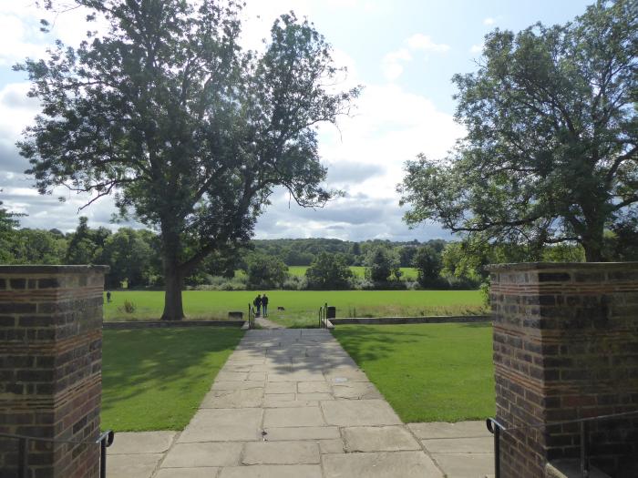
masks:
{"label": "bright, partly cloudy sky behind and between the two large trees", "polygon": [[[455,123],[456,73],[470,73],[480,61],[483,38],[494,28],[515,32],[538,21],[563,24],[581,15],[592,0],[246,0],[242,43],[260,48],[273,20],[293,10],[306,16],[333,46],[334,61],[346,66],[344,89],[364,86],[349,117],[338,127],[322,126],[319,153],[328,168],[327,186],[345,191],[344,198],[324,208],[300,208],[283,190],[255,229],[257,239],[325,237],[345,240],[450,239],[436,223],[408,229],[402,220],[396,185],[406,160],[424,153],[443,158],[464,136]],[[88,208],[86,195],[55,190],[40,196],[24,171],[28,163],[15,141],[33,121],[37,101],[26,97],[24,73],[11,66],[24,58],[46,57],[56,39],[70,46],[85,36],[84,13],[53,18],[34,0],[0,2],[0,200],[13,212],[26,214],[23,227],[77,227],[87,216],[91,227],[117,229],[135,223],[111,222],[111,198]],[[54,22],[39,31],[39,19]],[[58,197],[66,198],[60,202]]]}

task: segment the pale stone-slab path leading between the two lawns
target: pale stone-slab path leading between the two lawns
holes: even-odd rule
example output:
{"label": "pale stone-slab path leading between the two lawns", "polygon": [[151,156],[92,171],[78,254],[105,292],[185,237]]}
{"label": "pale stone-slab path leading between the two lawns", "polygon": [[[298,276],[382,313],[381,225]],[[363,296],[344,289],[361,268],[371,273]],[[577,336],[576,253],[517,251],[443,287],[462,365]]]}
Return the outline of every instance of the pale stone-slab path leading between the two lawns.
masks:
{"label": "pale stone-slab path leading between the two lawns", "polygon": [[404,425],[328,331],[248,331],[183,432],[118,433],[108,478],[482,478],[491,453],[482,422]]}

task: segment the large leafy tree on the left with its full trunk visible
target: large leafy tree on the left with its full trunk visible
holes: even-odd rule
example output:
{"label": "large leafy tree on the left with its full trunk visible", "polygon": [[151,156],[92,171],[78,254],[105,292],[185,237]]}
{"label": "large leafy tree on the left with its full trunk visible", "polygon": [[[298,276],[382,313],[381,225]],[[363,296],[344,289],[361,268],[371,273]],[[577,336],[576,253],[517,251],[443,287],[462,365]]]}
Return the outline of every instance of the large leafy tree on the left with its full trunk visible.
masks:
{"label": "large leafy tree on the left with its full trunk visible", "polygon": [[251,236],[273,188],[323,205],[316,125],[345,113],[330,47],[293,14],[263,53],[238,44],[239,6],[213,0],[75,0],[106,19],[74,49],[27,60],[42,104],[19,143],[40,192],[114,193],[120,212],[159,230],[162,319],[183,317],[183,280],[211,252]]}

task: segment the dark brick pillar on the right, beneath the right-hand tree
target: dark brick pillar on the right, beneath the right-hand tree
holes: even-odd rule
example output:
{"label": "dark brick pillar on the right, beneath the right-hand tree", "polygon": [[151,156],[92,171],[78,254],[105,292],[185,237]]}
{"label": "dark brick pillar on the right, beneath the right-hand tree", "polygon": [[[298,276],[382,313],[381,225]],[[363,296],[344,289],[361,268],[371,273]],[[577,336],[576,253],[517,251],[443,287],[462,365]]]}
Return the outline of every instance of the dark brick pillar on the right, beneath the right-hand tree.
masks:
{"label": "dark brick pillar on the right, beneath the right-hand tree", "polygon": [[[497,419],[506,427],[638,411],[638,263],[489,268]],[[597,422],[592,463],[638,476],[638,417]],[[504,477],[579,456],[576,424],[506,433]],[[633,472],[632,472],[633,470]],[[628,473],[628,474],[625,474]]]}

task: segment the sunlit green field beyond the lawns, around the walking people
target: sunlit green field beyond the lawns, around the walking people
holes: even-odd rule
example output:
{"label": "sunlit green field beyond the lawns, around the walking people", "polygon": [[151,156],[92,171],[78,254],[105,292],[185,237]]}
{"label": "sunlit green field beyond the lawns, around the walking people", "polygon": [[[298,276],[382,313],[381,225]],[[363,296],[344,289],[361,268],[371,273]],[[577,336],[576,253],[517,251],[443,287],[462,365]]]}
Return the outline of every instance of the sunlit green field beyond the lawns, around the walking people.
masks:
{"label": "sunlit green field beyond the lawns, around the walking people", "polygon": [[[262,291],[260,291],[261,293]],[[485,312],[478,290],[265,290],[270,298],[270,319],[287,327],[314,325],[324,303],[337,308],[337,317],[468,315]],[[184,313],[190,320],[227,319],[230,310],[248,309],[253,290],[185,290]],[[104,319],[158,320],[164,292],[148,290],[112,293],[104,304]],[[135,306],[124,310],[124,301]],[[283,307],[284,310],[277,310]]]}

